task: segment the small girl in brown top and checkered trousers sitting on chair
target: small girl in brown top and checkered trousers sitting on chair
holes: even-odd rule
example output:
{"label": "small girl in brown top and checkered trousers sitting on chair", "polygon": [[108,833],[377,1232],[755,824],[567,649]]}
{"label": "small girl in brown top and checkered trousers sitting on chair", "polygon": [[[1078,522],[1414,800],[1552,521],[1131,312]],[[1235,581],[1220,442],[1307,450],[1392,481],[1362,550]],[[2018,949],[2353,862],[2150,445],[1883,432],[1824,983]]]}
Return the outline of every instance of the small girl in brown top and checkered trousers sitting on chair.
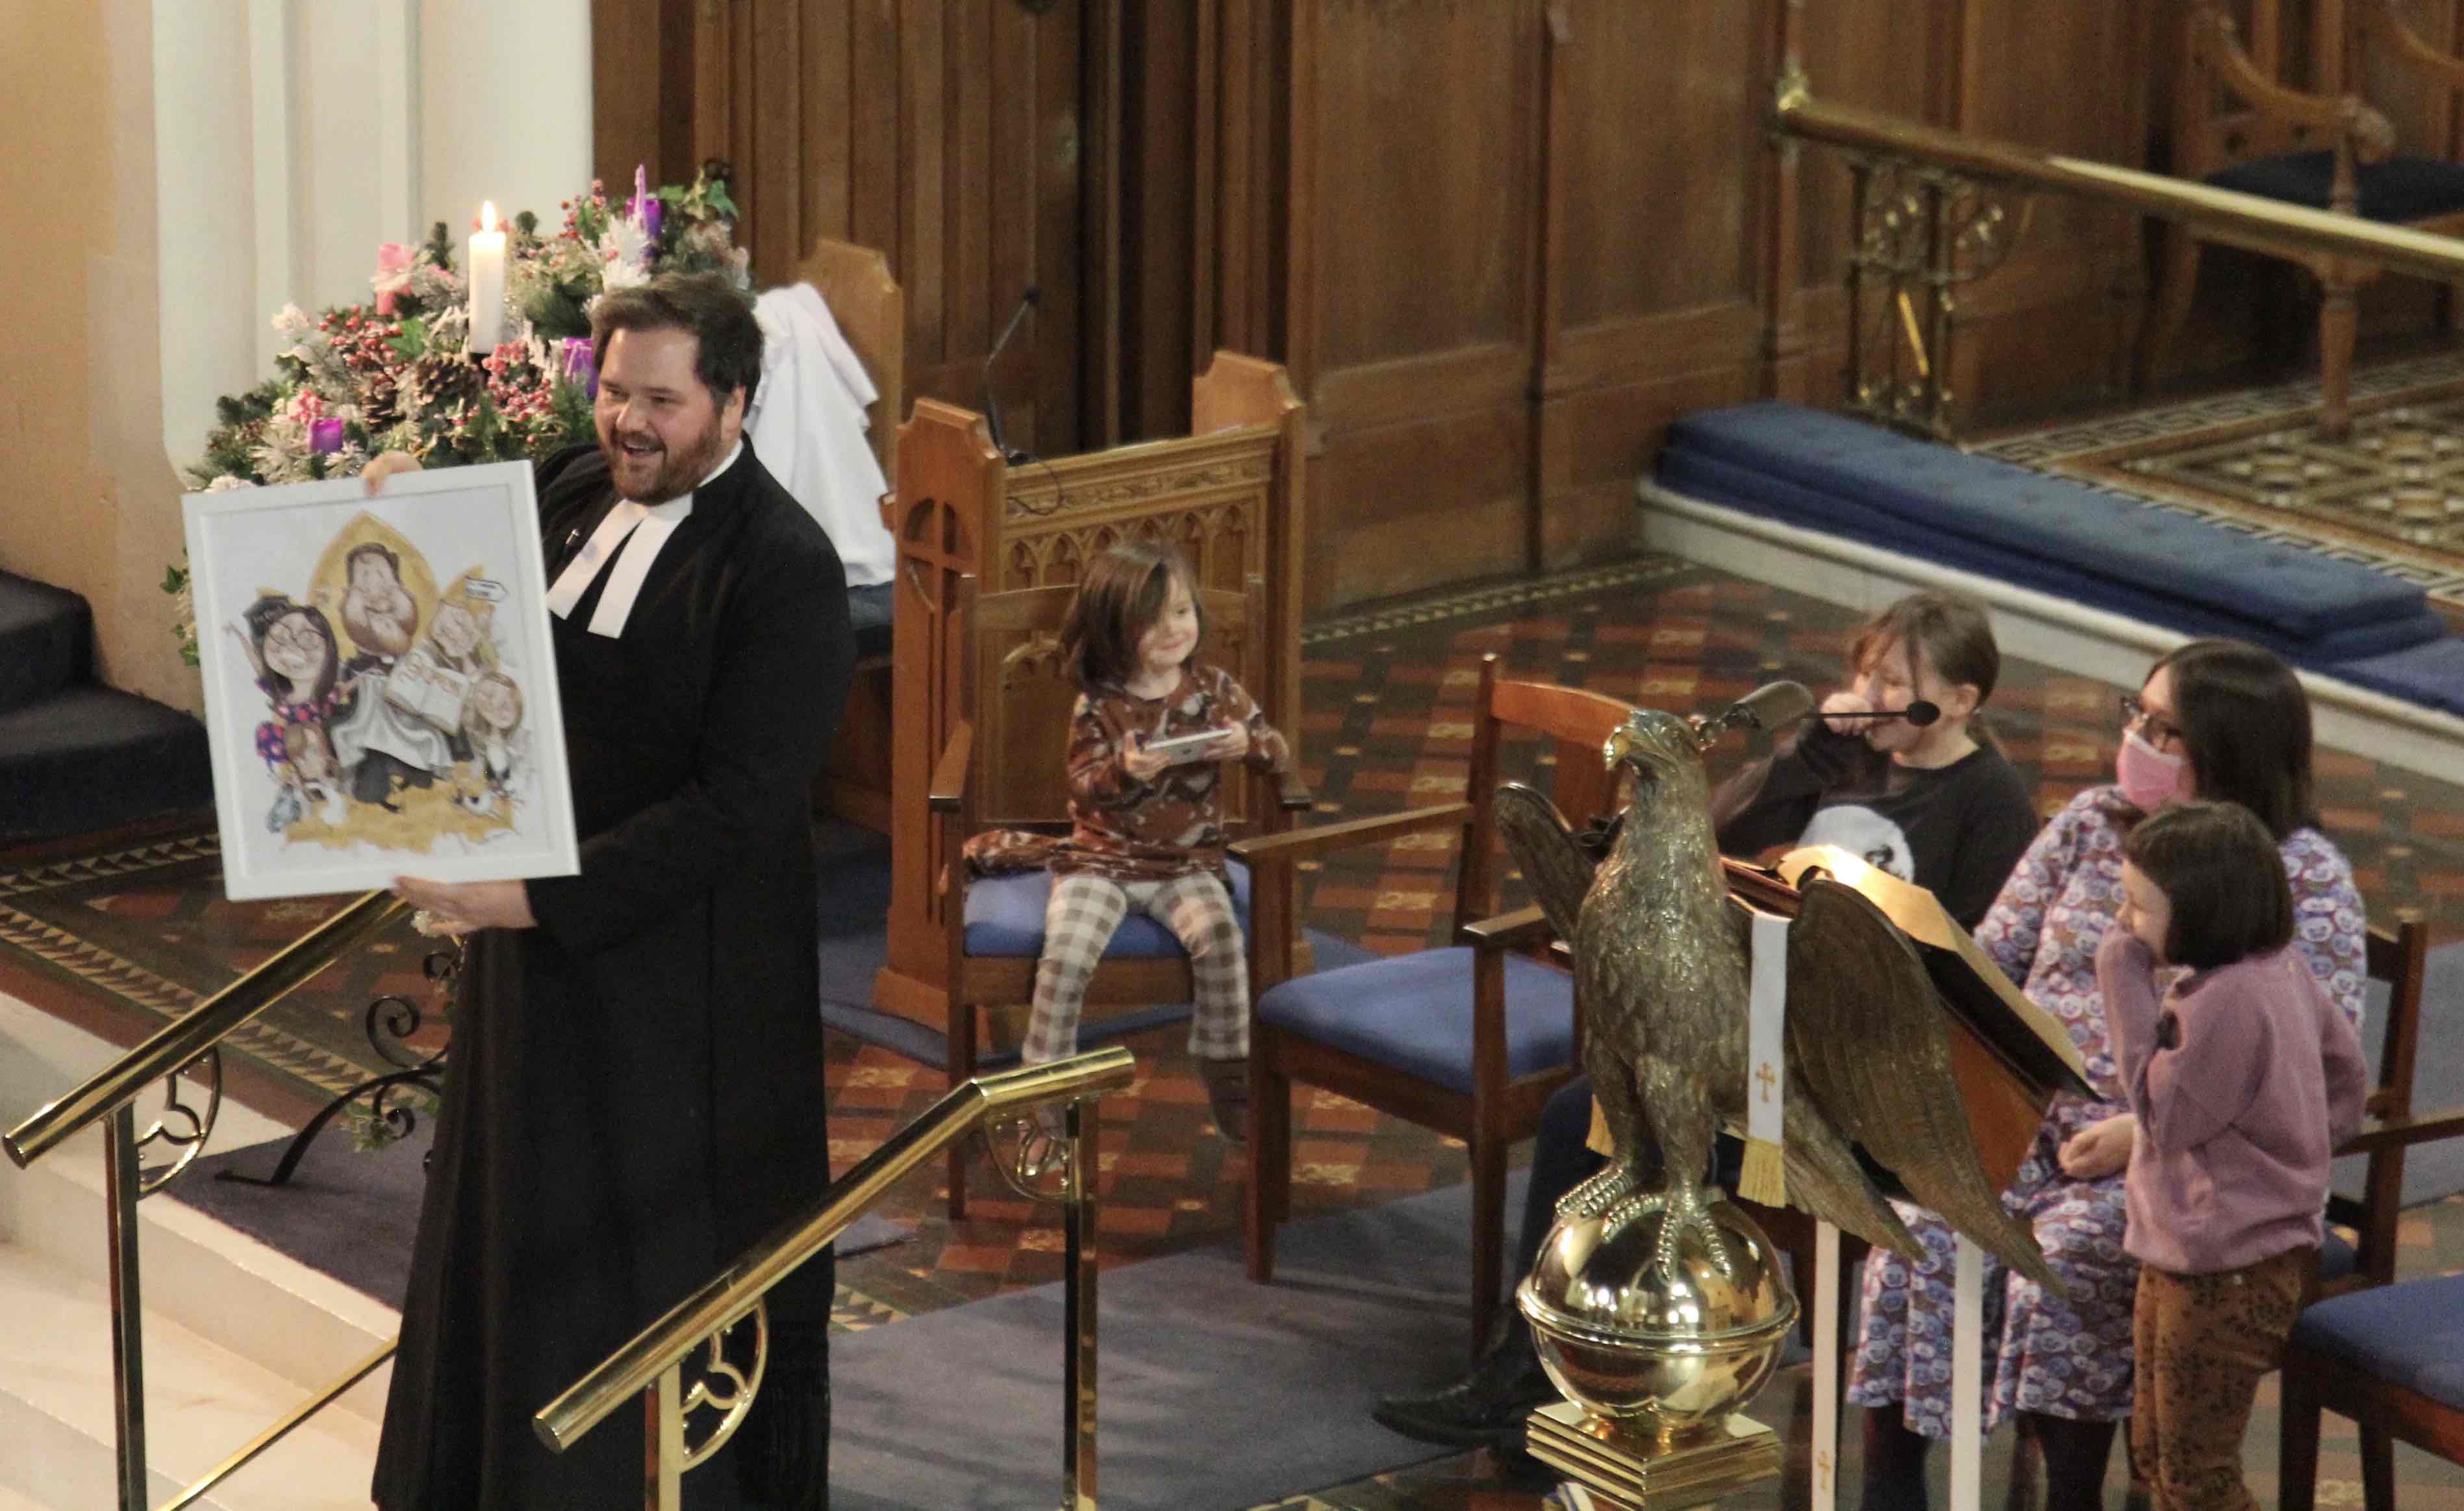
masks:
{"label": "small girl in brown top and checkered trousers sitting on chair", "polygon": [[[1249,1119],[1249,966],[1225,885],[1222,762],[1281,772],[1291,749],[1230,673],[1198,661],[1205,629],[1190,567],[1165,545],[1111,547],[1069,604],[1062,656],[1079,683],[1069,838],[1042,853],[1052,902],[1020,1057],[1040,1065],[1077,1053],[1087,979],[1138,910],[1190,951],[1190,1055],[1217,1131],[1237,1144]],[[978,865],[1018,863],[1000,848],[1008,836],[978,838],[988,841],[968,850]],[[1052,1119],[1042,1131],[1055,1131]],[[1018,1163],[1032,1173],[1025,1166],[1050,1159],[1020,1151]]]}

